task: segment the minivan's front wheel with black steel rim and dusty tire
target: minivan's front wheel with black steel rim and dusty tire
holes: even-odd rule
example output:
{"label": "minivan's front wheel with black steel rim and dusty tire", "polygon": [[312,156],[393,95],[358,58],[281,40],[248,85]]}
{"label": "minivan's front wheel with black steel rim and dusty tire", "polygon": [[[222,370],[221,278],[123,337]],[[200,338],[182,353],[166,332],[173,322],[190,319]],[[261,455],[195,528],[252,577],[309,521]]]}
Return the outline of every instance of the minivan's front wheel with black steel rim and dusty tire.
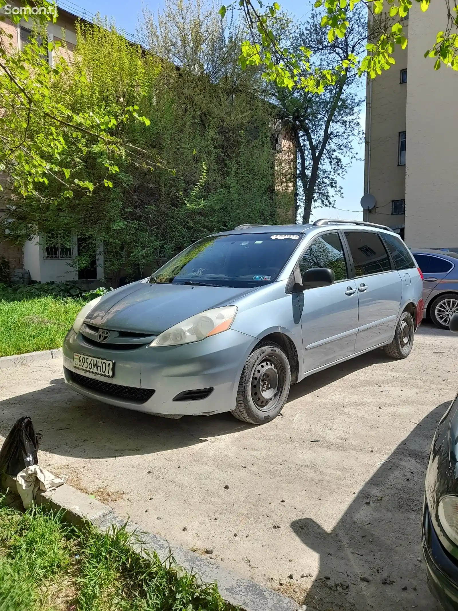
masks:
{"label": "minivan's front wheel with black steel rim and dusty tire", "polygon": [[269,422],[282,411],[290,386],[291,367],[282,348],[260,343],[245,362],[231,414],[250,424]]}

